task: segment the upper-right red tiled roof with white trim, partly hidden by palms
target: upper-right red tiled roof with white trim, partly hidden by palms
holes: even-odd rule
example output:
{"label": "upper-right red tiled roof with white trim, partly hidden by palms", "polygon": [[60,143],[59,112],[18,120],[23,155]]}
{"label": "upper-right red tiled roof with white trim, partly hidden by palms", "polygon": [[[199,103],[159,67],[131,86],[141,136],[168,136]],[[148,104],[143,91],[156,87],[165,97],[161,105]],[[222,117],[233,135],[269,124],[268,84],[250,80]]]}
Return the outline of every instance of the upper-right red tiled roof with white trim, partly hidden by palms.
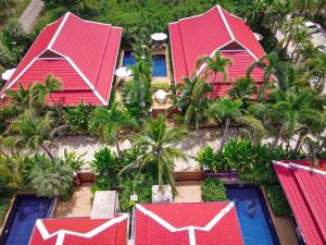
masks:
{"label": "upper-right red tiled roof with white trim, partly hidden by palms", "polygon": [[[223,57],[233,61],[233,64],[227,66],[226,83],[230,86],[238,77],[246,75],[247,69],[254,61],[265,54],[250,27],[221,5],[204,14],[171,23],[168,29],[176,82],[181,82],[185,76],[190,77],[192,74],[204,72],[205,65],[197,71],[197,60],[220,51]],[[262,83],[263,70],[254,69],[252,77]],[[213,76],[209,77],[209,82],[213,83]],[[215,83],[222,82],[223,77],[217,76]],[[217,94],[224,95],[221,91]]]}

